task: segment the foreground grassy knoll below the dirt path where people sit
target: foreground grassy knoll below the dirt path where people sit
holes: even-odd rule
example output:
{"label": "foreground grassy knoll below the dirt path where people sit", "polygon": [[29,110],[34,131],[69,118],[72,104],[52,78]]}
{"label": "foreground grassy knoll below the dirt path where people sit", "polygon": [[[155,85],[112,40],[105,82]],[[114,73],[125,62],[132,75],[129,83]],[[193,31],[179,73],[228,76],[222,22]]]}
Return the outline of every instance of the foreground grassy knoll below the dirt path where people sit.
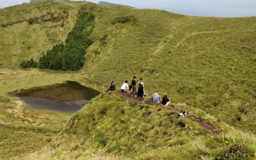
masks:
{"label": "foreground grassy knoll below the dirt path where people sit", "polygon": [[22,159],[252,159],[255,140],[232,130],[213,138],[174,111],[109,93],[76,112],[47,148]]}

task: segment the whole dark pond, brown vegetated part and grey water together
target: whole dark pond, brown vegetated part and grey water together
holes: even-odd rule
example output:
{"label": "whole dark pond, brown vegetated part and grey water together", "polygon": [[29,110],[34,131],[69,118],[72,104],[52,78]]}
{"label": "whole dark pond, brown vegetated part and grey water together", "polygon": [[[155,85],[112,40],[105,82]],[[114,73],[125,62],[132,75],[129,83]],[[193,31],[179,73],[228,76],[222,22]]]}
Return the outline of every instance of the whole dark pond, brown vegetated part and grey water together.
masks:
{"label": "whole dark pond, brown vegetated part and grey water together", "polygon": [[62,84],[34,87],[14,91],[10,96],[19,97],[29,107],[38,110],[52,110],[74,113],[100,94],[97,90],[82,86],[78,82],[67,81]]}

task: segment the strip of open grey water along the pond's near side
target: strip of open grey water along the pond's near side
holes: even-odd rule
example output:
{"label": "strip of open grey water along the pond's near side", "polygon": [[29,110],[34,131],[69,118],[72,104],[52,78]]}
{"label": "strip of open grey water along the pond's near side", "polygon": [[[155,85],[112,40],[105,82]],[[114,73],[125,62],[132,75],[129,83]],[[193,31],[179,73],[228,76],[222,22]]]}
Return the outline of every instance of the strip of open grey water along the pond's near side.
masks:
{"label": "strip of open grey water along the pond's near side", "polygon": [[29,107],[37,110],[52,110],[63,113],[75,113],[82,109],[84,105],[88,104],[90,100],[79,100],[76,102],[57,102],[54,100],[47,100],[44,98],[26,96],[20,97],[21,100],[26,102]]}

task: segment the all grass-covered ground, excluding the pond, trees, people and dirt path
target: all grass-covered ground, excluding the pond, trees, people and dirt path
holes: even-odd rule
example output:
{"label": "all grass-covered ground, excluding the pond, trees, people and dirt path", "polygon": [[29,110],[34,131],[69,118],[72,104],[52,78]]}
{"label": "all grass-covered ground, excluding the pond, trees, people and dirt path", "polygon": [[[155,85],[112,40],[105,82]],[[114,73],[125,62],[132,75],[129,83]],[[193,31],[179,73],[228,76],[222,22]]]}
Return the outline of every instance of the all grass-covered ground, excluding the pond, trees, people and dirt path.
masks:
{"label": "all grass-covered ground, excluding the pond, trees, people and dirt path", "polygon": [[[84,66],[22,69],[23,60],[38,62],[65,44],[81,6],[95,17]],[[184,16],[89,2],[0,9],[0,159],[254,160],[255,24],[256,17]],[[156,90],[168,93],[172,105],[218,135],[178,119],[177,112],[103,93],[112,80],[119,89],[133,76],[143,77],[146,100]],[[73,115],[33,110],[7,94],[67,80],[102,94]]]}

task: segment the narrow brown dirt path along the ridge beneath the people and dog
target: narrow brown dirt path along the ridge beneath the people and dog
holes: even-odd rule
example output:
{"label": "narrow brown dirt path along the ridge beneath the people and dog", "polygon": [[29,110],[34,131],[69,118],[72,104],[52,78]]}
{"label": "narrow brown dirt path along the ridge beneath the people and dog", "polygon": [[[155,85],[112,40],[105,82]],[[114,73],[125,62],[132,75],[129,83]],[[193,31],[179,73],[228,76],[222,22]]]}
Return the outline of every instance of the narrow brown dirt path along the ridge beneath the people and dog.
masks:
{"label": "narrow brown dirt path along the ridge beneath the people and dog", "polygon": [[[165,108],[167,110],[174,110],[174,111],[177,112],[177,114],[182,112],[181,110],[179,110],[175,106],[161,106],[161,105],[154,104],[154,102],[149,102],[149,101],[146,101],[146,100],[143,100],[143,101],[142,100],[138,100],[137,98],[133,98],[130,94],[123,93],[120,90],[115,90],[114,93],[118,94],[119,96],[121,96],[123,98],[132,100],[134,102],[141,102],[141,103],[144,103],[144,104],[148,104],[150,106],[161,107],[161,108]],[[195,122],[197,122],[200,126],[202,126],[202,128],[204,128],[205,130],[210,132],[210,134],[212,136],[216,136],[217,135],[217,132],[216,132],[215,128],[213,126],[211,126],[210,124],[207,124],[206,122],[202,121],[200,118],[192,117],[192,116],[189,116],[189,115],[187,116],[187,118],[190,118],[191,120],[194,120]]]}

